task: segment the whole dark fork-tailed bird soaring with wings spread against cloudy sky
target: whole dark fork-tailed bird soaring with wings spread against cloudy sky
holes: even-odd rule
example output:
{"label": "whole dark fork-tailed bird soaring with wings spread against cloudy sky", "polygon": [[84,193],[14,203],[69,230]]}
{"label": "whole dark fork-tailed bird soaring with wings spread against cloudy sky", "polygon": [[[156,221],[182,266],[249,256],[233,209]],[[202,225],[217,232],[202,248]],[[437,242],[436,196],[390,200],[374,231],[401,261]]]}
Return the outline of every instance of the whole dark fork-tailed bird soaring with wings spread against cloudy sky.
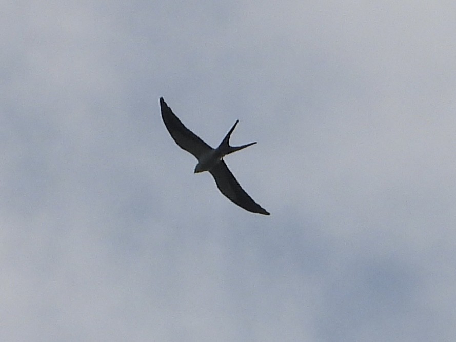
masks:
{"label": "whole dark fork-tailed bird soaring with wings spread against cloudy sky", "polygon": [[162,110],[163,122],[176,144],[198,159],[194,173],[209,171],[215,179],[217,188],[219,188],[219,190],[233,203],[253,213],[269,215],[265,209],[257,204],[252,197],[241,188],[223,160],[223,157],[227,154],[256,144],[255,142],[236,147],[229,145],[231,133],[233,133],[239,120],[231,127],[219,147],[213,149],[199,136],[184,126],[181,120],[174,115],[171,108],[168,107],[163,97],[160,98],[160,108]]}

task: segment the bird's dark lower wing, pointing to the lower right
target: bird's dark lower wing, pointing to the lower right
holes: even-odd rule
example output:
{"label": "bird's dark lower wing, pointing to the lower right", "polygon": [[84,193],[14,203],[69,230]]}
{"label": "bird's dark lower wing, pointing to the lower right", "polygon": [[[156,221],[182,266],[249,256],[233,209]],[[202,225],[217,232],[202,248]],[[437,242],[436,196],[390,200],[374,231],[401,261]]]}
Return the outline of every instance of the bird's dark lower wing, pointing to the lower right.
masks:
{"label": "bird's dark lower wing, pointing to the lower right", "polygon": [[269,215],[241,188],[223,160],[217,163],[209,172],[214,177],[217,188],[232,202],[252,213]]}

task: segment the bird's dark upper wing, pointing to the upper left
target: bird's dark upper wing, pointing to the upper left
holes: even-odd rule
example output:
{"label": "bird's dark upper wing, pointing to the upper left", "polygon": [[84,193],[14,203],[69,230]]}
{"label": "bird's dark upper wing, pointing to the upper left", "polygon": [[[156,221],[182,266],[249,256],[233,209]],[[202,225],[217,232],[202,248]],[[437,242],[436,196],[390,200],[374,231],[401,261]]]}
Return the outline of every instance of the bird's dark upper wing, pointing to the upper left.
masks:
{"label": "bird's dark upper wing, pointing to the upper left", "polygon": [[169,134],[182,149],[190,152],[196,158],[212,149],[199,136],[184,126],[181,120],[174,115],[171,108],[168,107],[163,97],[160,97],[160,108],[162,109],[163,122]]}

